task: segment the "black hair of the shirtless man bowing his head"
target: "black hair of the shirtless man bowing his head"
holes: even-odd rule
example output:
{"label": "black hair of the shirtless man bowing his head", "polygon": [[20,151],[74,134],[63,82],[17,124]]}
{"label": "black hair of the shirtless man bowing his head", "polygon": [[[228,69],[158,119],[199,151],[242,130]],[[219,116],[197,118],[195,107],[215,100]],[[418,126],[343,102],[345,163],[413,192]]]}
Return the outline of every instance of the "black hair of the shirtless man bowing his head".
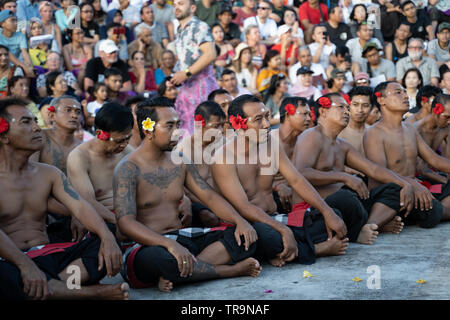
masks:
{"label": "black hair of the shirtless man bowing his head", "polygon": [[131,110],[115,102],[105,103],[95,115],[96,129],[107,132],[124,132],[133,129]]}

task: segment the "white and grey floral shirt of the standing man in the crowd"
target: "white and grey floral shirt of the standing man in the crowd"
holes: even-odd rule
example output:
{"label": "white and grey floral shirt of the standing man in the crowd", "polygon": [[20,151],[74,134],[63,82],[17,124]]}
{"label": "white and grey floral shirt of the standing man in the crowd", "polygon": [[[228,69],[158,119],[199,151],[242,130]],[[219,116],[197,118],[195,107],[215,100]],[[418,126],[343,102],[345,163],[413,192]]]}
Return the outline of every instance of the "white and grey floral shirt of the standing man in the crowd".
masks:
{"label": "white and grey floral shirt of the standing man in the crowd", "polygon": [[202,55],[200,45],[204,42],[214,42],[211,30],[205,22],[194,16],[183,29],[179,26],[175,40],[178,57],[175,70],[184,71],[192,66]]}

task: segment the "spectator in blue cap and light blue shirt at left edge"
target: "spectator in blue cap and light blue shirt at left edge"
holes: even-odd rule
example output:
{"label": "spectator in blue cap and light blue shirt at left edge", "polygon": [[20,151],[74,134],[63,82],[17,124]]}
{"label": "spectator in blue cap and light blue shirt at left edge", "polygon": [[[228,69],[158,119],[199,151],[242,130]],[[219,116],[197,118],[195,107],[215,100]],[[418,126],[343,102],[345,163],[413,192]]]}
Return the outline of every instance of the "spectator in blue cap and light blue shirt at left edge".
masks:
{"label": "spectator in blue cap and light blue shirt at left edge", "polygon": [[[9,48],[9,59],[22,68],[27,77],[34,78],[33,64],[27,50],[27,38],[17,30],[17,18],[10,10],[0,11],[0,44]],[[19,57],[22,59],[19,59]]]}

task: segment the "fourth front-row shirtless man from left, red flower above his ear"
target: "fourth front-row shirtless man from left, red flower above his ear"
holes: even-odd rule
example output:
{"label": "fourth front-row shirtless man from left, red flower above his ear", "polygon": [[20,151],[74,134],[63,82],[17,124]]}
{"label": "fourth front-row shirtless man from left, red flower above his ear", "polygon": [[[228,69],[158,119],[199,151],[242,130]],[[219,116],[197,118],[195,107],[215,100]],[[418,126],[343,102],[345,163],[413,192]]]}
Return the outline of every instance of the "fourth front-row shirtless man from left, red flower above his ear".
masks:
{"label": "fourth front-row shirtless man from left, red flower above his ear", "polygon": [[[329,93],[317,100],[319,111],[316,127],[304,131],[294,149],[296,168],[317,188],[325,201],[342,212],[346,225],[359,221],[363,223],[349,234],[350,241],[373,244],[382,231],[399,233],[403,228],[401,220],[390,217],[388,221],[379,219],[384,212],[392,210],[391,203],[411,210],[412,188],[399,176],[386,168],[368,161],[348,142],[337,138],[349,122],[349,107],[338,93]],[[361,178],[344,172],[344,166],[376,177],[384,185],[369,192]],[[401,186],[397,193],[391,189]],[[294,201],[302,201],[294,195]],[[370,214],[369,214],[370,213]],[[395,212],[394,212],[395,214]],[[392,220],[392,221],[391,221]]]}

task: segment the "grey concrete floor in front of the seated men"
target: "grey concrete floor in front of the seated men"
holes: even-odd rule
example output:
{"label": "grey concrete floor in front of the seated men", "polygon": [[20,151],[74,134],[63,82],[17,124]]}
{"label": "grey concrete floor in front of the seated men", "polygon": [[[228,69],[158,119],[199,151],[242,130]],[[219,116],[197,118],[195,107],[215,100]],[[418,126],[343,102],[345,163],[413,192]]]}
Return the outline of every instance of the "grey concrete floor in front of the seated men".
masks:
{"label": "grey concrete floor in front of the seated men", "polygon": [[[136,300],[407,300],[450,299],[450,223],[434,229],[405,227],[401,235],[383,234],[372,245],[350,244],[347,254],[319,258],[313,265],[263,264],[258,278],[220,279],[176,286],[171,293],[156,288],[131,291]],[[380,289],[368,279],[379,267]],[[375,267],[376,268],[376,267]],[[304,271],[315,277],[303,278]],[[359,277],[360,282],[352,279]],[[426,280],[420,284],[416,281]],[[117,283],[121,277],[104,280]],[[376,286],[376,281],[369,285]],[[266,290],[272,292],[266,293]]]}

